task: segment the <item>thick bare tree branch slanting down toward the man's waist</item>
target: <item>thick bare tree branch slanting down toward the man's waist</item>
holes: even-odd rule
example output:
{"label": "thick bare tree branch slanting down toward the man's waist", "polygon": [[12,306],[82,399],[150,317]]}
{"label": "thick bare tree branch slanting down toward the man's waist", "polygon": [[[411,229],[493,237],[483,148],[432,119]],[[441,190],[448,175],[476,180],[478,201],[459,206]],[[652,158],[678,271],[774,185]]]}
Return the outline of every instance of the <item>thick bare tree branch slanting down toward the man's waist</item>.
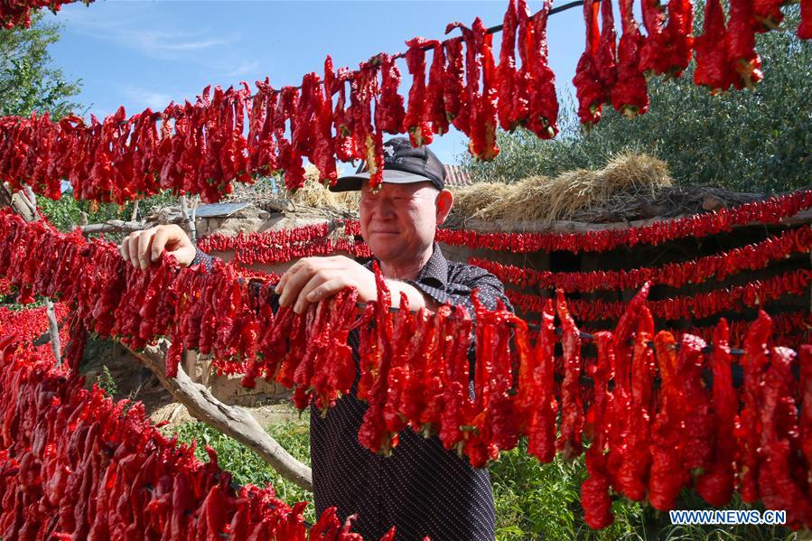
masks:
{"label": "thick bare tree branch slanting down toward the man's waist", "polygon": [[[124,344],[122,344],[124,345]],[[175,401],[186,406],[189,413],[203,423],[209,424],[223,434],[243,443],[270,464],[286,480],[291,480],[304,490],[313,490],[313,475],[310,468],[297,461],[276,443],[257,423],[252,415],[238,406],[226,406],[215,398],[206,387],[191,381],[182,367],[178,367],[176,378],[167,378],[165,372],[166,340],[158,345],[147,345],[143,351],[130,350],[136,358],[152,370]]]}

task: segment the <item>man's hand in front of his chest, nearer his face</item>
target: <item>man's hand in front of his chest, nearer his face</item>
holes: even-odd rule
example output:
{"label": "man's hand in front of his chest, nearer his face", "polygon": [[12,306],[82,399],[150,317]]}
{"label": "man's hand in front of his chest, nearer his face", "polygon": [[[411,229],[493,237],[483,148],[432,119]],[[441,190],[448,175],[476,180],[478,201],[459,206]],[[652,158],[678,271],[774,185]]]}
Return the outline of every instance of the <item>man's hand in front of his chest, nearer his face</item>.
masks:
{"label": "man's hand in front of his chest, nearer his face", "polygon": [[280,294],[280,306],[293,304],[294,312],[303,313],[310,303],[318,303],[350,285],[358,290],[361,303],[378,296],[375,275],[349,257],[304,257],[285,271],[275,292]]}

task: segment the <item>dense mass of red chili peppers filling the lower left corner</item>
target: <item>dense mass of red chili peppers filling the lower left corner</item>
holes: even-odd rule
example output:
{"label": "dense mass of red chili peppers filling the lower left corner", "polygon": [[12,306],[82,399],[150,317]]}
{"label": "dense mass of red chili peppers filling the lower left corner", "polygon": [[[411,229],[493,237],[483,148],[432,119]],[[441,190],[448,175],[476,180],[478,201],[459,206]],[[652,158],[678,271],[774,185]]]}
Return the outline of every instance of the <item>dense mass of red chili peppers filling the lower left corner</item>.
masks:
{"label": "dense mass of red chili peppers filling the lower left corner", "polygon": [[141,402],[83,388],[19,335],[0,338],[0,366],[7,539],[362,540],[335,508],[307,531],[307,502],[291,508],[271,486],[236,486],[211,447],[201,462],[196,443],[163,437]]}

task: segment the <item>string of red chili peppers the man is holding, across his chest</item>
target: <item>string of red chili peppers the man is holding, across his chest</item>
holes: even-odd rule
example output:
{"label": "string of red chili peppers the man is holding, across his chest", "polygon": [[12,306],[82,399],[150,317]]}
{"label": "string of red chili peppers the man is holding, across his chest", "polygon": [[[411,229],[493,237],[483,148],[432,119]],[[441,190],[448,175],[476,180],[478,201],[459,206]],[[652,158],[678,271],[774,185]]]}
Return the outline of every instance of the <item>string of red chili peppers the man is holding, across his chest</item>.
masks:
{"label": "string of red chili peppers the man is holding, across his chest", "polygon": [[[411,427],[421,434],[437,434],[447,449],[461,452],[474,467],[483,467],[498,458],[499,452],[512,449],[522,435],[528,438],[528,452],[549,462],[556,450],[566,458],[574,457],[583,450],[584,434],[594,439],[604,431],[606,452],[588,460],[590,480],[583,486],[582,502],[591,527],[604,527],[611,521],[610,489],[632,499],[648,493],[655,508],[666,510],[673,508],[678,492],[696,477],[700,494],[709,501],[721,500],[723,505],[733,491],[733,475],[711,482],[700,479],[703,473],[696,473],[710,474],[717,463],[723,471],[741,477],[746,500],[761,498],[767,508],[786,509],[790,527],[812,524],[806,481],[800,485],[803,476],[790,475],[808,470],[812,463],[800,462],[812,455],[799,452],[798,440],[791,436],[812,434],[812,419],[807,418],[812,415],[812,408],[807,407],[812,404],[809,368],[801,367],[805,390],[798,396],[803,397],[804,406],[797,406],[793,391],[797,383],[784,379],[787,373],[791,376],[795,352],[767,349],[772,322],[764,312],[751,324],[743,348],[742,426],[748,432],[734,434],[736,445],[727,445],[728,449],[738,446],[744,454],[742,461],[733,461],[722,450],[714,452],[714,445],[723,442],[722,436],[714,438],[714,431],[728,434],[733,422],[720,417],[714,422],[708,416],[719,408],[712,409],[711,394],[702,384],[697,356],[706,344],[686,335],[677,349],[677,340],[669,332],[655,335],[646,303],[647,287],[632,300],[615,331],[596,333],[599,359],[585,369],[597,385],[587,390],[581,382],[580,330],[562,291],[556,293],[555,308],[548,300],[539,338],[531,346],[527,322],[499,303],[495,309],[486,308],[476,294],[471,314],[460,306],[447,305],[436,313],[425,309],[410,312],[405,295],[400,303],[404,309],[391,313],[391,298],[377,267],[378,300],[367,303],[360,318],[357,294],[352,290],[299,315],[289,308],[274,312],[268,302],[273,284],[257,284],[258,293],[253,294],[253,288],[240,282],[234,269],[222,262],[215,263],[212,272],[204,272],[178,269],[171,257],[164,257],[157,268],[141,271],[126,266],[115,246],[88,242],[80,233],[62,235],[45,223],[26,224],[7,212],[0,213],[0,223],[0,275],[8,275],[15,287],[30,293],[61,294],[61,301],[79,314],[83,328],[117,336],[132,347],[169,336],[173,341],[166,359],[170,377],[184,348],[211,352],[217,368],[236,367],[246,374],[244,385],[267,378],[294,387],[294,405],[303,408],[313,402],[326,414],[350,392],[354,381],[356,368],[347,338],[357,328],[357,396],[369,403],[359,428],[359,443],[370,451],[391,452],[397,447],[398,432]],[[83,278],[79,280],[79,276]],[[555,382],[553,365],[555,313],[561,322],[564,353],[560,385]],[[732,378],[726,323],[720,325],[725,331],[719,331],[714,340],[713,355],[726,360],[724,368],[714,365],[714,377],[719,378],[714,379],[714,397],[723,392],[735,396],[732,388],[725,390],[723,383],[716,383]],[[469,393],[472,331],[474,396]],[[652,340],[654,350],[649,348]],[[812,362],[808,356],[812,349],[802,348],[801,353],[804,363]],[[651,385],[655,355],[662,382],[656,400]],[[66,364],[75,366],[76,362],[70,359]],[[594,370],[605,372],[607,366],[613,367],[613,378],[600,373],[595,377]],[[780,385],[768,391],[764,378],[779,378]],[[610,380],[615,382],[612,389],[607,383]],[[558,393],[556,387],[560,387]],[[631,390],[624,395],[622,389]],[[649,396],[650,402],[634,402],[638,392]],[[770,404],[776,400],[793,408],[791,415],[781,413],[781,418],[795,421],[775,423],[778,414]],[[561,435],[556,442],[559,405]],[[589,409],[584,415],[586,405]],[[604,407],[602,415],[616,411],[619,416],[615,418],[627,421],[594,424],[592,420]],[[623,426],[632,426],[630,434],[643,434],[637,446],[619,444],[629,435],[614,432]],[[789,447],[782,442],[789,442]],[[602,457],[605,467],[600,463]],[[735,470],[737,464],[742,464],[740,471]],[[760,469],[770,475],[760,476]],[[705,491],[699,488],[703,482],[710,484]]]}

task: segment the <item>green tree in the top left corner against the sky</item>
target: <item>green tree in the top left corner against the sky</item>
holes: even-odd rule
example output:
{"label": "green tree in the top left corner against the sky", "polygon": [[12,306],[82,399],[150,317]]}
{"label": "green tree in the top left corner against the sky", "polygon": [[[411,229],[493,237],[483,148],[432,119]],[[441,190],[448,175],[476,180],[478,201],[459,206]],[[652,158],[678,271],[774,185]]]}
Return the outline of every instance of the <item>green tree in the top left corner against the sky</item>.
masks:
{"label": "green tree in the top left corner against the sky", "polygon": [[60,25],[33,14],[31,28],[0,30],[0,116],[28,116],[50,111],[64,117],[79,105],[79,80],[69,80],[51,65],[51,44],[60,40]]}

